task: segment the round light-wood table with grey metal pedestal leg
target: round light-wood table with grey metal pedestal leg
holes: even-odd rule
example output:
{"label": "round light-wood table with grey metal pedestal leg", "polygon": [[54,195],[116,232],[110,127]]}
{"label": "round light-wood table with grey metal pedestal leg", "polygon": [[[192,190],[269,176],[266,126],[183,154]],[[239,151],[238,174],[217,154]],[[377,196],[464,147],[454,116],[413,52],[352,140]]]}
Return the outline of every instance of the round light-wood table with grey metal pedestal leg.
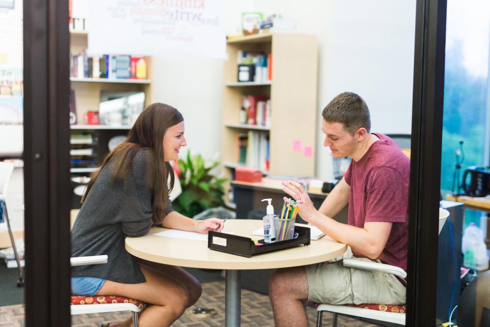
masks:
{"label": "round light-wood table with grey metal pedestal leg", "polygon": [[[258,220],[228,220],[224,231],[235,235],[252,236],[252,231],[262,227]],[[265,253],[251,258],[239,257],[208,249],[204,241],[186,240],[153,235],[166,230],[154,227],[142,237],[126,237],[126,250],[135,257],[176,266],[225,269],[225,323],[227,327],[240,326],[242,287],[240,271],[245,269],[271,269],[324,262],[342,255],[345,244],[328,236],[311,241],[309,246]]]}

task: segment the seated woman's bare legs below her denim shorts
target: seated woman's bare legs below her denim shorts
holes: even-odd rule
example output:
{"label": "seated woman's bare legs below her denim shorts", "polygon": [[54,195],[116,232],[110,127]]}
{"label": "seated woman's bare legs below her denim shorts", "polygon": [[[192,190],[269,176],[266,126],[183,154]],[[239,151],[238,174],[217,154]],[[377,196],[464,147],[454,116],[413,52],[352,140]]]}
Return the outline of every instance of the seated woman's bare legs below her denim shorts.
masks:
{"label": "seated woman's bare legs below her denim shorts", "polygon": [[[96,295],[121,295],[149,304],[140,313],[140,327],[166,327],[184,313],[189,303],[189,294],[181,282],[159,271],[140,264],[146,282],[123,284],[106,281]],[[119,326],[130,326],[128,321]]]}

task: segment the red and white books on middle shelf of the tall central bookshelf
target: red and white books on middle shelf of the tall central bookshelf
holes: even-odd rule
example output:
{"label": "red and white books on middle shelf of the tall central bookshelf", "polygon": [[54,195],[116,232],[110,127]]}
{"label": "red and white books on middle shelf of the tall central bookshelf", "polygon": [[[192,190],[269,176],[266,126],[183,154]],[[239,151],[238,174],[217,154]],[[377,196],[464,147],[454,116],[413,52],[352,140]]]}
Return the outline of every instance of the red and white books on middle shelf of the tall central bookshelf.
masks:
{"label": "red and white books on middle shelf of the tall central bookshelf", "polygon": [[271,127],[271,99],[262,96],[242,96],[239,122]]}

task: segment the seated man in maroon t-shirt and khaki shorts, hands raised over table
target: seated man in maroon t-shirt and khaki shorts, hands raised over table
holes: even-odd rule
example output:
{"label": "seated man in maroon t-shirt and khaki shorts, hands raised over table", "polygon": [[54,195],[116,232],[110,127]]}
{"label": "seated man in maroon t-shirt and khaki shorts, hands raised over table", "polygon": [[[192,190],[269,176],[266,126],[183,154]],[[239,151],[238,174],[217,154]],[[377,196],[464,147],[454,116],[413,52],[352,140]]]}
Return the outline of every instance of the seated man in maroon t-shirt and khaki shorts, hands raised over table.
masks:
{"label": "seated man in maroon t-shirt and khaki shorts, hands raised over table", "polygon": [[[322,116],[323,145],[352,162],[319,210],[299,183],[282,183],[284,192],[301,198],[301,218],[349,245],[353,257],[406,270],[409,159],[391,138],[370,132],[368,106],[357,94],[338,95]],[[347,203],[348,223],[332,219]],[[341,261],[278,269],[269,285],[276,326],[307,326],[306,300],[396,305],[405,303],[405,293],[404,280]]]}

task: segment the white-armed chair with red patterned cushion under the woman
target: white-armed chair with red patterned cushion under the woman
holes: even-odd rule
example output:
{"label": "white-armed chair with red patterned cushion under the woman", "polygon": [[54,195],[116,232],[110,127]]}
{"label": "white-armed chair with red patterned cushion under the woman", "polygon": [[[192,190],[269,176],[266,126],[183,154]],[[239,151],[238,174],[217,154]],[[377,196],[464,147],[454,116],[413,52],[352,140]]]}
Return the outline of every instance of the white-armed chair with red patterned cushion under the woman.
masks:
{"label": "white-armed chair with red patterned cushion under the woman", "polygon": [[[71,265],[107,263],[107,256],[76,257],[71,258]],[[96,305],[95,305],[96,304]],[[71,314],[81,315],[89,313],[104,313],[115,311],[131,311],[133,326],[138,327],[138,312],[146,307],[146,303],[124,296],[71,296]]]}

